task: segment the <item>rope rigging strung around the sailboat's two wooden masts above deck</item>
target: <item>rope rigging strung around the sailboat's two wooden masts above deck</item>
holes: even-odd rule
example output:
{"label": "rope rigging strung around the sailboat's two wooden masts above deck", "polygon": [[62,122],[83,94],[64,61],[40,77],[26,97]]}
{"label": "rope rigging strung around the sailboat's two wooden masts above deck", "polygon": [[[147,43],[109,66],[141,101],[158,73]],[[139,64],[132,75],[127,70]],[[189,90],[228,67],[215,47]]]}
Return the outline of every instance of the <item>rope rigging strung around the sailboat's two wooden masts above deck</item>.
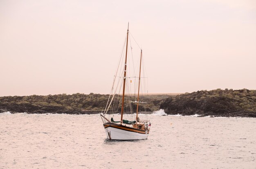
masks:
{"label": "rope rigging strung around the sailboat's two wooden masts above deck", "polygon": [[[139,56],[141,55],[142,61],[141,61],[141,85],[139,86],[139,76],[137,76],[136,74],[139,74],[139,59],[135,59],[133,54],[136,51],[135,48],[132,47],[132,40],[137,44],[137,46],[139,47],[139,50],[141,50],[141,47],[138,45],[138,43],[136,42],[135,38],[132,36],[132,34],[129,31],[129,42],[127,40],[128,36],[126,36],[125,40],[124,40],[124,44],[122,46],[122,50],[120,53],[120,58],[119,58],[119,62],[117,64],[117,70],[115,72],[114,75],[114,79],[113,79],[113,83],[112,83],[112,88],[110,90],[110,95],[108,97],[108,101],[106,104],[106,107],[104,109],[103,114],[106,115],[108,113],[109,119],[110,116],[114,116],[114,114],[119,114],[121,112],[121,103],[122,103],[122,87],[124,86],[124,82],[126,83],[126,88],[125,88],[125,97],[124,97],[124,118],[128,118],[128,119],[133,119],[136,120],[136,108],[137,108],[137,103],[139,103],[139,112],[143,111],[142,109],[144,109],[144,111],[146,111],[146,105],[140,105],[141,103],[146,103],[145,102],[145,98],[143,97],[144,93],[147,92],[146,90],[146,80],[147,79],[147,75],[146,71],[145,71],[145,67],[144,67],[144,58],[142,53],[139,54]],[[123,73],[125,71],[125,46],[127,46],[127,48],[129,48],[130,50],[128,50],[128,55],[127,55],[127,69],[126,69],[126,77],[123,76]],[[136,46],[136,45],[135,45]],[[137,53],[137,52],[136,52]],[[130,58],[131,57],[131,58]],[[137,57],[136,57],[137,58]],[[136,64],[135,64],[136,61]],[[132,71],[133,68],[133,71]],[[133,75],[132,75],[133,74]],[[145,79],[145,80],[144,80]],[[137,102],[137,96],[136,94],[138,94],[138,90],[139,90],[139,102]],[[136,106],[135,106],[136,105]],[[134,115],[135,114],[135,115]]]}

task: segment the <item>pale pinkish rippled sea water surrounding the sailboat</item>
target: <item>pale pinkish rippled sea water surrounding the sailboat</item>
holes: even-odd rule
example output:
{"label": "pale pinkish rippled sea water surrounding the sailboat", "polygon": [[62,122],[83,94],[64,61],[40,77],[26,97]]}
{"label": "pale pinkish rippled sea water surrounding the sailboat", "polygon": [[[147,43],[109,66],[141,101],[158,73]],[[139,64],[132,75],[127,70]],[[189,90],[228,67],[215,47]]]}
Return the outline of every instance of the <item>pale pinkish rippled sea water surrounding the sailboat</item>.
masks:
{"label": "pale pinkish rippled sea water surrounding the sailboat", "polygon": [[148,139],[116,141],[99,114],[1,113],[0,169],[256,169],[256,118],[147,116]]}

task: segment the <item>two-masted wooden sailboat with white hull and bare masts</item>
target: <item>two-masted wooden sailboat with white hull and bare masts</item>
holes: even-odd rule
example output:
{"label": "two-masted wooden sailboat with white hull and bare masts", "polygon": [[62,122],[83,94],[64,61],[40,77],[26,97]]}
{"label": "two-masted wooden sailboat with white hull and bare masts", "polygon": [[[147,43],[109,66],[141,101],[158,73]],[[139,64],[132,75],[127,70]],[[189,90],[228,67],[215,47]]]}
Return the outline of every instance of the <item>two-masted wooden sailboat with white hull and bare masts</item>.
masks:
{"label": "two-masted wooden sailboat with white hull and bare masts", "polygon": [[[147,139],[150,132],[150,125],[151,125],[150,121],[148,119],[143,119],[143,117],[140,118],[138,116],[139,108],[143,108],[141,104],[146,103],[144,101],[140,101],[140,97],[139,97],[140,88],[141,88],[141,79],[145,78],[145,77],[141,77],[142,49],[140,48],[139,77],[136,77],[136,76],[128,77],[127,76],[128,39],[129,39],[129,23],[128,23],[126,40],[125,40],[126,43],[124,43],[124,46],[126,46],[125,59],[120,58],[117,72],[114,76],[112,90],[108,98],[108,103],[106,105],[104,112],[102,111],[100,114],[101,119],[103,121],[103,127],[106,132],[106,137],[107,139],[110,139],[110,140],[142,140],[142,139]],[[124,56],[124,46],[122,51],[123,56]],[[130,48],[132,49],[131,46]],[[121,61],[124,61],[124,64],[121,64],[122,66],[120,66]],[[119,73],[120,76],[117,76],[119,68],[121,70],[121,73]],[[117,80],[118,78],[119,78],[119,81]],[[134,93],[134,99],[136,99],[135,101],[131,101],[131,100],[129,101],[129,99],[133,97],[133,94],[129,95],[125,93],[126,89],[130,90],[130,87],[128,85],[129,83],[132,83],[132,80],[129,80],[131,78],[138,80],[138,83],[135,83],[135,87],[137,87],[137,93],[136,93],[137,99]],[[118,84],[121,83],[120,88],[114,87],[116,81],[118,81],[117,82]],[[122,94],[121,94],[121,88],[122,88]],[[117,94],[118,89],[120,94]],[[120,97],[120,99],[114,99],[115,97]],[[128,100],[126,98],[128,98]],[[116,105],[112,105],[112,103],[116,103]],[[125,105],[125,103],[128,105]],[[119,108],[120,105],[121,105],[121,110]],[[135,113],[135,109],[136,109],[136,113]],[[107,114],[109,111],[112,111],[113,113],[111,118],[110,118],[110,115],[107,117]],[[120,115],[119,112],[121,114],[121,117],[119,117]],[[130,117],[130,119],[124,119],[124,115],[127,115],[128,113],[130,113],[130,116],[127,116],[127,118]],[[115,121],[114,120],[115,116],[118,116],[120,120]]]}

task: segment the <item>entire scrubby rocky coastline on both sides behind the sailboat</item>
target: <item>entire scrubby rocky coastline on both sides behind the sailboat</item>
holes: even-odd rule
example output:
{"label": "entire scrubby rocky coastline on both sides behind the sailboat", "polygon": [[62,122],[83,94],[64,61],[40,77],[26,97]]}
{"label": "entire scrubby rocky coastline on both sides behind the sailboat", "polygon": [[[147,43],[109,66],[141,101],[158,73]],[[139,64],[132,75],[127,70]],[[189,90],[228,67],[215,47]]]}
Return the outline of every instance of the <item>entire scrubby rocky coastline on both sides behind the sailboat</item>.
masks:
{"label": "entire scrubby rocky coastline on both sides behind the sailboat", "polygon": [[[0,113],[99,114],[105,108],[106,98],[101,94],[0,97]],[[168,98],[149,95],[146,99],[154,109],[140,111],[141,114],[163,109],[166,114],[182,116],[256,117],[256,90],[201,90]]]}

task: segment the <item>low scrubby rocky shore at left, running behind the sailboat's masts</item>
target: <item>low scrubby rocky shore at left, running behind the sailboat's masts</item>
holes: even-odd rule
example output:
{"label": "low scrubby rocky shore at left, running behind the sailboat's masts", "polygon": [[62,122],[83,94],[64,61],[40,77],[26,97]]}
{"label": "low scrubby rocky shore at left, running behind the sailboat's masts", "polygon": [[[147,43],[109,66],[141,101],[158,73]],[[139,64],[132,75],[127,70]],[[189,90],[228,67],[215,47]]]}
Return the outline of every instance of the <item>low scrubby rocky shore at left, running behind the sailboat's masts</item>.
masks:
{"label": "low scrubby rocky shore at left, running behind the sailboat's masts", "polygon": [[[27,112],[28,114],[98,114],[105,109],[109,95],[106,94],[55,94],[47,96],[5,96],[0,97],[0,112]],[[162,99],[168,98],[167,94],[141,96],[148,102],[149,107],[139,105],[139,112],[153,112],[158,110]],[[119,103],[118,97],[114,99]],[[137,108],[136,104],[132,105]],[[121,105],[117,108],[117,113],[121,110]],[[145,112],[144,112],[145,113]]]}

